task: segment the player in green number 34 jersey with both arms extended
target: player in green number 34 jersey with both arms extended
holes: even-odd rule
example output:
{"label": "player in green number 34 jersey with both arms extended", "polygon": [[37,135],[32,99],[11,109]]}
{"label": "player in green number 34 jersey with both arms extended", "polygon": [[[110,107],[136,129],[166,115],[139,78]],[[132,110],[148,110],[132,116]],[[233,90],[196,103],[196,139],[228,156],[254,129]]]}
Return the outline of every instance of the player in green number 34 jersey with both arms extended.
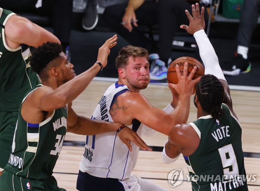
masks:
{"label": "player in green number 34 jersey with both arms extended", "polygon": [[[52,173],[66,132],[96,135],[116,131],[123,125],[78,116],[71,108],[72,101],[106,66],[116,40],[116,35],[108,39],[99,48],[97,63],[77,77],[60,44],[47,42],[32,52],[31,67],[42,84],[26,93],[21,103],[12,153],[0,177],[1,191],[64,190],[58,188]],[[118,135],[130,150],[129,141],[149,149],[128,127]],[[91,156],[90,151],[88,157]]]}

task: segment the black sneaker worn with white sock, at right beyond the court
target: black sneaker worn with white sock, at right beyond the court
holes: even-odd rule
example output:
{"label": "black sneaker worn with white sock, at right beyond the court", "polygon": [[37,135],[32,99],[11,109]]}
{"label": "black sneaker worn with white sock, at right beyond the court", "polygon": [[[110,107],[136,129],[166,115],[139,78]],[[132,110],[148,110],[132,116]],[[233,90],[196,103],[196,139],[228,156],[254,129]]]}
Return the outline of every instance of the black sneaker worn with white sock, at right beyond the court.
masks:
{"label": "black sneaker worn with white sock, at right beyond the court", "polygon": [[237,76],[251,70],[251,63],[248,59],[244,59],[240,54],[235,55],[235,58],[224,63],[225,65],[222,67],[223,74]]}

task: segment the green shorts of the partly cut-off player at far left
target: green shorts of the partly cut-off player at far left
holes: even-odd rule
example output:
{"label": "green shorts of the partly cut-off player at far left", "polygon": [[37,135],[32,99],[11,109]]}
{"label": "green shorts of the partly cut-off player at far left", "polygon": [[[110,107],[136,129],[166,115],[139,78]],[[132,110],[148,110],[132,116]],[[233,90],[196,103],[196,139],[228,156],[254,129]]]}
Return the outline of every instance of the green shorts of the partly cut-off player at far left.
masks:
{"label": "green shorts of the partly cut-off player at far left", "polygon": [[4,168],[8,163],[12,152],[12,142],[17,123],[17,112],[0,111],[0,168]]}

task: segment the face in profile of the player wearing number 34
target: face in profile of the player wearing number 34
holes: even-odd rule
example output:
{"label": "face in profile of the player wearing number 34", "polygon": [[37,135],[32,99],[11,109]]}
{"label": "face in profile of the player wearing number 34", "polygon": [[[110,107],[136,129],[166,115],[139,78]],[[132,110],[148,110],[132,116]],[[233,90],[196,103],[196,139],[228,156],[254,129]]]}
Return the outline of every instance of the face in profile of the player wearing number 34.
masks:
{"label": "face in profile of the player wearing number 34", "polygon": [[75,71],[73,70],[73,64],[68,61],[68,57],[65,55],[64,52],[60,53],[60,71],[62,74],[62,81],[64,83],[68,82],[69,80],[75,77]]}

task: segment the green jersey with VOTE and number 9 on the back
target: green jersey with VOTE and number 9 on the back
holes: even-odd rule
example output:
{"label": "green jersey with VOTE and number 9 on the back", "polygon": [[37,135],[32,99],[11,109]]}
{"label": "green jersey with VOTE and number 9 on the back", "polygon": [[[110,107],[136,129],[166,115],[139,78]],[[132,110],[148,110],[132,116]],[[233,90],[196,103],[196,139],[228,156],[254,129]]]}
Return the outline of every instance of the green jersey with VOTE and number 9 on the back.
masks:
{"label": "green jersey with VOTE and number 9 on the back", "polygon": [[200,137],[190,156],[184,156],[192,190],[248,190],[242,150],[242,129],[229,108],[222,104],[224,116],[211,115],[189,123]]}

